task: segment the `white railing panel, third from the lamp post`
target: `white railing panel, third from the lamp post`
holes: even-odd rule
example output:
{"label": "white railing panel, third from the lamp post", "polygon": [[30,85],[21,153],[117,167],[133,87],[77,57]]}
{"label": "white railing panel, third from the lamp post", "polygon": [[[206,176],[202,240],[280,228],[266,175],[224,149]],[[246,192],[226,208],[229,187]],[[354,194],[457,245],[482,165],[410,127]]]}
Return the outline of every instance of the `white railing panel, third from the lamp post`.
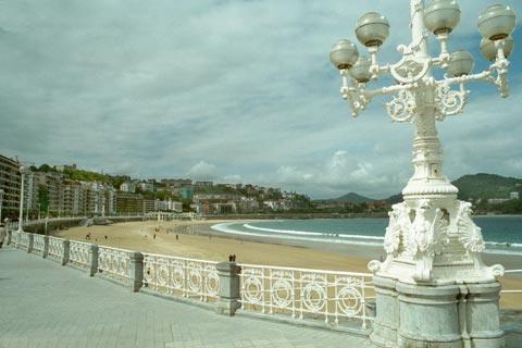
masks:
{"label": "white railing panel, third from the lamp post", "polygon": [[129,284],[129,250],[98,247],[98,273],[117,283]]}

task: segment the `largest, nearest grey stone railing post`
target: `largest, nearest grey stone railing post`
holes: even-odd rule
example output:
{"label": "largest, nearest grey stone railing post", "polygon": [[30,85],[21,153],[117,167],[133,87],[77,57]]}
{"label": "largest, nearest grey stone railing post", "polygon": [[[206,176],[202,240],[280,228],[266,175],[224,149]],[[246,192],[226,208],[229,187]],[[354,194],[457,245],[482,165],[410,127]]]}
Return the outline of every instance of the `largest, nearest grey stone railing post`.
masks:
{"label": "largest, nearest grey stone railing post", "polygon": [[235,262],[220,262],[215,266],[220,277],[220,294],[215,302],[215,312],[233,316],[241,307],[239,302],[239,273],[241,268]]}

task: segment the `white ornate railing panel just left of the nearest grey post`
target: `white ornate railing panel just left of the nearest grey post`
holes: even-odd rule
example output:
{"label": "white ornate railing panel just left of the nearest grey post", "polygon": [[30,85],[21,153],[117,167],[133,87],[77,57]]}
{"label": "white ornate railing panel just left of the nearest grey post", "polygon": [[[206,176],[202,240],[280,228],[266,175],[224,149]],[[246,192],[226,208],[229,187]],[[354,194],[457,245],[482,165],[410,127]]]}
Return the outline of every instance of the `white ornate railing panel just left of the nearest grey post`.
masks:
{"label": "white ornate railing panel just left of the nearest grey post", "polygon": [[217,298],[217,262],[144,253],[144,287],[174,297]]}

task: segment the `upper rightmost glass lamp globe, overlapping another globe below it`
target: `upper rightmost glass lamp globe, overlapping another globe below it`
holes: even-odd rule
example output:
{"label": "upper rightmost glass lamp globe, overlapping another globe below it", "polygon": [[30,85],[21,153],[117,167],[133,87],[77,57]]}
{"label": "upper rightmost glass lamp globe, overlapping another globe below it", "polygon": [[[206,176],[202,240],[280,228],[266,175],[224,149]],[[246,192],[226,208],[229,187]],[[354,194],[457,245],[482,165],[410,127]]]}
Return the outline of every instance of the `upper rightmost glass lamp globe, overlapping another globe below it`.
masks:
{"label": "upper rightmost glass lamp globe, overlapping another globe below it", "polygon": [[478,16],[478,32],[489,40],[500,40],[513,33],[517,26],[517,14],[506,4],[494,4],[485,9]]}

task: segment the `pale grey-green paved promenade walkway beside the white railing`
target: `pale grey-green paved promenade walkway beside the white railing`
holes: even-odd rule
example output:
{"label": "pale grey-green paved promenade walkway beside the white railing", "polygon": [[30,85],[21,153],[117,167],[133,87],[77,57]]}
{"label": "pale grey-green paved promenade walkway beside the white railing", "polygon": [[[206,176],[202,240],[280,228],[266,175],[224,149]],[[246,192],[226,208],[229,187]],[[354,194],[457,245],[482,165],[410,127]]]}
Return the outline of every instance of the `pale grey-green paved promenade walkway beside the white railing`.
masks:
{"label": "pale grey-green paved promenade walkway beside the white railing", "polygon": [[0,249],[0,348],[368,347],[364,338],[226,318]]}

